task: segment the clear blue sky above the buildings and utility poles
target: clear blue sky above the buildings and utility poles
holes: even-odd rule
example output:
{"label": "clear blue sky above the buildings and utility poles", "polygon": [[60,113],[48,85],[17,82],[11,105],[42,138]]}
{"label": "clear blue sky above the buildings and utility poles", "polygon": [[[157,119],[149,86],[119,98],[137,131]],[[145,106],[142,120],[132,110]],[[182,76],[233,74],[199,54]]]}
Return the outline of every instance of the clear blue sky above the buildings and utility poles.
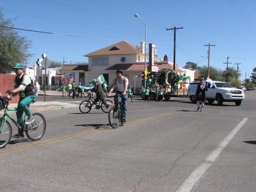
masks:
{"label": "clear blue sky above the buildings and utility poles", "polygon": [[[256,0],[0,0],[4,17],[16,18],[14,27],[58,34],[126,40],[135,46],[145,39],[156,43],[157,55],[173,61],[172,30],[176,31],[176,64],[186,62],[198,66],[208,64],[224,70],[239,66],[245,73],[256,67]],[[18,30],[20,36],[32,41],[34,54],[28,66],[35,64],[42,53],[50,60],[70,63],[88,62],[84,54],[118,41],[42,34]],[[203,60],[203,61],[202,61]],[[247,76],[248,77],[248,76]]]}

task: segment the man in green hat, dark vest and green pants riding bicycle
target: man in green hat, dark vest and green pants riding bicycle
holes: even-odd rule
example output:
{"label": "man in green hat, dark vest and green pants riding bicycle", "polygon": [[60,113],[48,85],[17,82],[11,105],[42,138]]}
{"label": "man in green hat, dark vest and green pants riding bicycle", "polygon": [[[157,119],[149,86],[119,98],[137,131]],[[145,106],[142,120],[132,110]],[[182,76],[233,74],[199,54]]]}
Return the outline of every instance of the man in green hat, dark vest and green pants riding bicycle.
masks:
{"label": "man in green hat, dark vest and green pants riding bicycle", "polygon": [[[20,100],[18,102],[18,110],[16,112],[17,116],[17,122],[22,127],[23,124],[23,111],[28,116],[28,119],[26,120],[25,124],[30,124],[34,121],[34,117],[32,116],[29,105],[30,103],[34,102],[36,100],[35,90],[34,90],[34,84],[31,80],[31,78],[28,76],[28,74],[24,73],[24,66],[20,63],[16,63],[16,65],[13,67],[16,73],[16,77],[14,78],[14,90],[7,90],[6,93],[9,95],[8,98],[12,96],[16,96],[17,94],[20,95]],[[18,129],[18,134],[12,136],[13,138],[24,138],[24,127],[22,129]]]}

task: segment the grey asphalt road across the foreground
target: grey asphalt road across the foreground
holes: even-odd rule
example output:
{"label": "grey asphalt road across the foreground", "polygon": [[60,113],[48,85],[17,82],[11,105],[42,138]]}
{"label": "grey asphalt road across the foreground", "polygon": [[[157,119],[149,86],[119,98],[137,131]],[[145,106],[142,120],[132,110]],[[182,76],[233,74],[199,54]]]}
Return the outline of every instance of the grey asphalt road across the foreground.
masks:
{"label": "grey asphalt road across the foreground", "polygon": [[255,192],[256,91],[241,106],[196,108],[188,98],[136,99],[116,129],[101,110],[39,110],[44,137],[0,149],[0,191]]}

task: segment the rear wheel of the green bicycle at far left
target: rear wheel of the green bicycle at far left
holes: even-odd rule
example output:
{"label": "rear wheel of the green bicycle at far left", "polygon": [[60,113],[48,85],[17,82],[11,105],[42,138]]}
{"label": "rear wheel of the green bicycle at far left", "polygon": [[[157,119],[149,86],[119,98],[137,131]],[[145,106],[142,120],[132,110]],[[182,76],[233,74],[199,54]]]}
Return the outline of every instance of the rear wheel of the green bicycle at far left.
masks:
{"label": "rear wheel of the green bicycle at far left", "polygon": [[25,132],[32,141],[40,140],[46,130],[46,121],[42,114],[33,113],[34,121],[25,126]]}

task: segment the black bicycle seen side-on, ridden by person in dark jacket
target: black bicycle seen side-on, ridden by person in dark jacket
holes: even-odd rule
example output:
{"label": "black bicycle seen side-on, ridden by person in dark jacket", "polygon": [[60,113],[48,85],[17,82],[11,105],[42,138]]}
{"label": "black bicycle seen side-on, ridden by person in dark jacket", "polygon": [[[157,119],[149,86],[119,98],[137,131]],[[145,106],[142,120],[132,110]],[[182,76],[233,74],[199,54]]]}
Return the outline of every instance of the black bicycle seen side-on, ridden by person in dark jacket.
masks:
{"label": "black bicycle seen side-on, ridden by person in dark jacket", "polygon": [[[87,96],[88,96],[88,100],[82,101],[79,105],[79,110],[81,113],[88,113],[92,109],[92,103],[95,98],[92,97],[91,93],[88,93]],[[108,113],[113,102],[111,100],[105,100],[105,102],[106,102],[106,105],[104,105],[102,103],[102,100],[100,100],[100,103],[96,104],[95,108],[101,109],[104,113]]]}

